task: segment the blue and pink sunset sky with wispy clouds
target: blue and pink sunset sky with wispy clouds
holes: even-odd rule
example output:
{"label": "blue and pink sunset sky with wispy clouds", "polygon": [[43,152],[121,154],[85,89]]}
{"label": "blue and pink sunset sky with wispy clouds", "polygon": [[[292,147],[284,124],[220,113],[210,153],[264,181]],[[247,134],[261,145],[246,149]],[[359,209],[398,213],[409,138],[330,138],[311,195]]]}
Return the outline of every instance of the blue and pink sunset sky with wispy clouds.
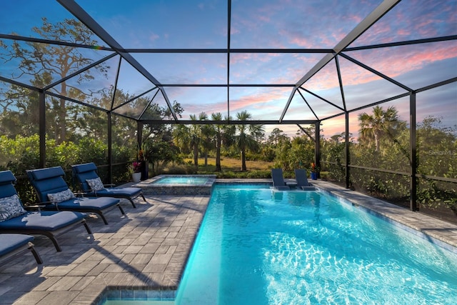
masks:
{"label": "blue and pink sunset sky with wispy clouds", "polygon": [[[125,49],[331,49],[358,23],[381,4],[381,0],[233,0],[230,36],[226,0],[76,0],[94,20]],[[43,4],[44,3],[44,4]],[[36,36],[30,31],[41,26],[41,17],[49,21],[73,18],[57,1],[17,0],[2,4],[0,34],[15,32]],[[457,34],[456,0],[403,0],[363,33],[352,46],[366,46],[413,39],[427,39]],[[106,45],[100,41],[101,45]],[[87,51],[95,60],[106,51]],[[457,76],[457,42],[396,46],[362,51],[345,51],[352,59],[370,66],[411,89]],[[293,85],[325,54],[235,53],[227,54],[133,54],[161,84],[280,84]],[[338,57],[344,97],[348,109],[356,109],[406,91]],[[113,84],[118,59],[109,62],[108,79],[96,78],[88,84]],[[229,76],[228,76],[229,67]],[[0,76],[14,74],[14,66],[0,67]],[[26,82],[26,79],[21,79]],[[418,94],[418,120],[441,117],[443,124],[457,124],[456,83]],[[151,82],[128,63],[121,64],[118,88],[136,95],[151,89]],[[236,116],[248,111],[254,120],[278,120],[291,96],[292,86],[224,87],[165,86],[170,101],[184,108],[184,119],[191,114],[221,112]],[[293,96],[288,119],[325,119],[341,114],[343,101],[338,86],[336,63],[331,61]],[[321,96],[318,99],[315,95]],[[154,92],[150,94],[154,96]],[[304,98],[304,99],[303,99]],[[156,101],[165,104],[161,96]],[[309,106],[308,106],[309,105]],[[335,106],[333,106],[335,105]],[[408,120],[408,99],[383,104],[396,106],[401,119]],[[311,111],[311,109],[313,111]],[[371,109],[363,110],[370,112]],[[357,132],[356,116],[351,115],[351,132]],[[298,127],[278,127],[293,136]],[[323,121],[323,134],[344,131],[343,116]]]}

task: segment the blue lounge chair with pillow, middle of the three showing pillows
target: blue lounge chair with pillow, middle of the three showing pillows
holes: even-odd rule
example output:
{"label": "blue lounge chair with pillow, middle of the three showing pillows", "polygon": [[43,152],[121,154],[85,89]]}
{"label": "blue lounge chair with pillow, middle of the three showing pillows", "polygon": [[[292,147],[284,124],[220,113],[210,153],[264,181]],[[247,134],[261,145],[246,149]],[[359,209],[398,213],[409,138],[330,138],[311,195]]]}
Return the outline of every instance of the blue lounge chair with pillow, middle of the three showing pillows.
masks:
{"label": "blue lounge chair with pillow, middle of the three showing pillows", "polygon": [[118,207],[121,214],[124,210],[119,199],[108,197],[76,197],[64,180],[64,170],[61,166],[47,169],[32,169],[27,171],[31,185],[45,209],[57,211],[80,211],[95,213],[108,224],[104,212]]}

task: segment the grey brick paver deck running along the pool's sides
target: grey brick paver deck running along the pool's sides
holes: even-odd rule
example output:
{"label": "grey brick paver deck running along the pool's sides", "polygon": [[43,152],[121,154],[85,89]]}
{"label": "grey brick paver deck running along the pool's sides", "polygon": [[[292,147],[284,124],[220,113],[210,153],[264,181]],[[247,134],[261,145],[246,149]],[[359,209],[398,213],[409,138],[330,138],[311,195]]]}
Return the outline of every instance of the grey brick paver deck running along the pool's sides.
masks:
{"label": "grey brick paver deck running along the pool's sides", "polygon": [[[457,246],[457,226],[453,224],[325,181],[315,183]],[[56,252],[49,239],[36,237],[34,244],[44,264],[37,266],[31,254],[26,254],[0,266],[0,304],[96,304],[108,286],[177,289],[209,196],[149,195],[146,199],[147,203],[136,200],[137,209],[123,201],[127,215],[110,211],[107,226],[101,219],[89,217],[93,236],[83,226],[69,231],[59,237],[61,252]]]}

